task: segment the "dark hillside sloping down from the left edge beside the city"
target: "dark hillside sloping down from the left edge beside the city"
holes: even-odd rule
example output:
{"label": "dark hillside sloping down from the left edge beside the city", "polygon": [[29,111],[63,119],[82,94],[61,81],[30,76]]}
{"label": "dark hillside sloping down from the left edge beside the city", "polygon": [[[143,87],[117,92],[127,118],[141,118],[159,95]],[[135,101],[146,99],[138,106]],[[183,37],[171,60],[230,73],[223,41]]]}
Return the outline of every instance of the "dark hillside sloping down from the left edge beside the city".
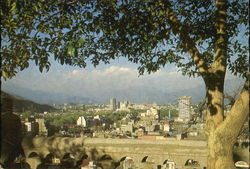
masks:
{"label": "dark hillside sloping down from the left edge beside the city", "polygon": [[23,111],[33,111],[36,113],[43,113],[45,111],[50,112],[56,110],[54,107],[47,105],[47,104],[38,104],[31,100],[27,100],[25,98],[11,95],[9,93],[6,93],[4,91],[1,91],[1,98],[11,98],[13,99],[14,104],[14,112],[21,113]]}

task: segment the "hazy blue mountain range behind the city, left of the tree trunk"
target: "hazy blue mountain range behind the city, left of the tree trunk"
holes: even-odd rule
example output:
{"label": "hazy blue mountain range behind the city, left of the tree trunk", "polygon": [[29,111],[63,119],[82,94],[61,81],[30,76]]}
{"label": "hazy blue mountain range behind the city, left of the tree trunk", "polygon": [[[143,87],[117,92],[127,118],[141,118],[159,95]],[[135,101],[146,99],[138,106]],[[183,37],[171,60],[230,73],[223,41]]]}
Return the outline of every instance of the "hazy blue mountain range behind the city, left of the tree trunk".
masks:
{"label": "hazy blue mountain range behind the city, left of the tree trunk", "polygon": [[8,86],[4,89],[12,95],[22,96],[26,99],[35,101],[40,104],[64,104],[64,103],[83,103],[83,104],[108,104],[111,97],[118,101],[131,101],[132,103],[175,103],[178,97],[187,95],[192,97],[192,102],[197,103],[204,97],[205,90],[193,88],[189,90],[180,90],[175,92],[160,91],[151,88],[134,88],[129,91],[114,90],[112,92],[100,93],[99,97],[95,96],[72,96],[64,93],[46,92],[40,90],[31,90],[18,86]]}

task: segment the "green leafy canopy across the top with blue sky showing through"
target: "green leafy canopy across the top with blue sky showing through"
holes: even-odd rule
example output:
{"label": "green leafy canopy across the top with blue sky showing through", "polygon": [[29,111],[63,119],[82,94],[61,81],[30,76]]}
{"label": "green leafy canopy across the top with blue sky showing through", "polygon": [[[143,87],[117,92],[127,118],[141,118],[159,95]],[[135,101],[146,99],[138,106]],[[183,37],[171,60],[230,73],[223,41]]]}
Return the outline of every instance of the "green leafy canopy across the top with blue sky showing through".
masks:
{"label": "green leafy canopy across the top with blue sky showing through", "polygon": [[[229,0],[227,5],[227,65],[244,76],[248,44],[242,39],[248,36],[248,1]],[[169,11],[179,22],[166,16]],[[96,66],[126,57],[140,65],[140,73],[175,63],[184,74],[195,75],[197,66],[183,41],[188,36],[186,41],[211,64],[216,17],[211,0],[2,1],[1,73],[11,78],[30,60],[41,72],[48,71],[50,57],[79,67],[87,61]]]}

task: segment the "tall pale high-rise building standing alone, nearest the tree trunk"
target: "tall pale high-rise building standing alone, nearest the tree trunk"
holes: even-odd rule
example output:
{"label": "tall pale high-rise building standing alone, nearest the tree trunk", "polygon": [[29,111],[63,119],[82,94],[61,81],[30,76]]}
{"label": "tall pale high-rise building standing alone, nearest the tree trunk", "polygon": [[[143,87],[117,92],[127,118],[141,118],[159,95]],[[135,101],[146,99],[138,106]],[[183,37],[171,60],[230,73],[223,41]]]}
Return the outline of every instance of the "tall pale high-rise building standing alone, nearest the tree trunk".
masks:
{"label": "tall pale high-rise building standing alone, nearest the tree trunk", "polygon": [[182,96],[178,98],[179,119],[183,121],[190,120],[190,96]]}

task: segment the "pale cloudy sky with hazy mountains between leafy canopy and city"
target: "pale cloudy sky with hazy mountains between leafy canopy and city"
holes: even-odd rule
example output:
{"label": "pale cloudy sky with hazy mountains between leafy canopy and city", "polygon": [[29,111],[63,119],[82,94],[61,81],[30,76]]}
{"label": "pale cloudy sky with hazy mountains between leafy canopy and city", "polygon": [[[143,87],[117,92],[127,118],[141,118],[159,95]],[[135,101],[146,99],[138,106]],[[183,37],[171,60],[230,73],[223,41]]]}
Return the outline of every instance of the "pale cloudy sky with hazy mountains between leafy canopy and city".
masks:
{"label": "pale cloudy sky with hazy mountains between leafy canopy and city", "polygon": [[[72,97],[78,97],[78,101],[87,99],[105,104],[111,97],[119,101],[160,104],[177,102],[182,95],[191,95],[195,102],[204,98],[202,79],[183,76],[174,65],[141,76],[137,67],[124,59],[96,68],[92,65],[72,67],[52,61],[49,72],[41,73],[38,67],[31,64],[16,77],[2,81],[2,90],[46,104],[70,102]],[[243,83],[242,79],[231,74],[227,74],[226,79],[226,88],[230,91]]]}

